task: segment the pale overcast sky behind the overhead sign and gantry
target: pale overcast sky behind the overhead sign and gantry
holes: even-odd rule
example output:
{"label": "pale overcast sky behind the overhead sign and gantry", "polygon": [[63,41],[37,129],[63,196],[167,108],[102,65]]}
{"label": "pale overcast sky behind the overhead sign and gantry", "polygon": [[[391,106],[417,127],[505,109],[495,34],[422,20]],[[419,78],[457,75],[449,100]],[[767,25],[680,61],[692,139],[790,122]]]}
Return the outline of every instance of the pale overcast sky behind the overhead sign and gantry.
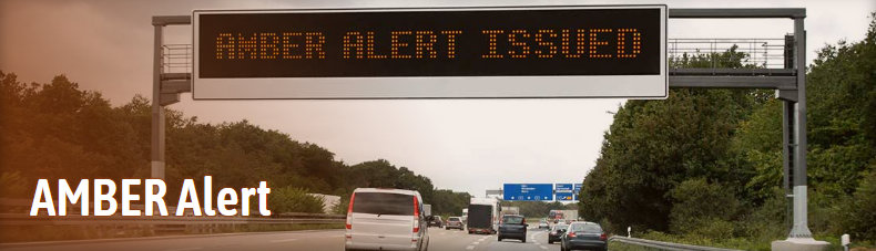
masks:
{"label": "pale overcast sky behind the overhead sign and gantry", "polygon": [[[686,1],[670,8],[806,8],[807,61],[825,43],[864,38],[873,0]],[[193,9],[552,6],[655,1],[37,1],[0,0],[0,70],[23,82],[57,74],[100,91],[114,105],[151,97],[152,15]],[[791,20],[670,20],[670,38],[782,38]],[[166,29],[191,43],[191,27]],[[608,112],[624,100],[192,101],[171,107],[201,122],[248,119],[316,143],[348,164],[385,158],[436,187],[483,196],[503,182],[580,182],[594,166]]]}

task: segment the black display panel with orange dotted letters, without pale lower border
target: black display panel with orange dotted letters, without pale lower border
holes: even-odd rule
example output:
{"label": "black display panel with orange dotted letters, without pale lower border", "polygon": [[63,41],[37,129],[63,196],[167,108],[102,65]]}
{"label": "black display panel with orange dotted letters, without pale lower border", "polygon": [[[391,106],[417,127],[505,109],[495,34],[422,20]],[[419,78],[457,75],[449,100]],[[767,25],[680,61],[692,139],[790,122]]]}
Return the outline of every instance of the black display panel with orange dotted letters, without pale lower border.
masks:
{"label": "black display panel with orange dotted letters, without pale lower border", "polygon": [[660,9],[211,13],[201,77],[660,74]]}

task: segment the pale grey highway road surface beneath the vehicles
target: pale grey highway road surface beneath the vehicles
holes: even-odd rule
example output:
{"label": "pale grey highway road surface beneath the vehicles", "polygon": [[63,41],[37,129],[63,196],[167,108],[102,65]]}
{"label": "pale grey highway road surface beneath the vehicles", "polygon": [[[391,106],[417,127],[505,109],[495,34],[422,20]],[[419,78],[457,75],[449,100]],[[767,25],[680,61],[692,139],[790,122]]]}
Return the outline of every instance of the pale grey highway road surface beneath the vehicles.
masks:
{"label": "pale grey highway road surface beneath the vehicles", "polygon": [[[468,234],[466,231],[430,228],[429,251],[544,251],[560,250],[559,243],[548,244],[547,230],[530,229],[527,243],[518,240],[498,242],[496,234]],[[258,250],[258,251],[343,251],[344,230],[205,234],[169,238],[130,238],[106,241],[62,241],[16,245],[0,245],[9,251],[196,251],[196,250]]]}

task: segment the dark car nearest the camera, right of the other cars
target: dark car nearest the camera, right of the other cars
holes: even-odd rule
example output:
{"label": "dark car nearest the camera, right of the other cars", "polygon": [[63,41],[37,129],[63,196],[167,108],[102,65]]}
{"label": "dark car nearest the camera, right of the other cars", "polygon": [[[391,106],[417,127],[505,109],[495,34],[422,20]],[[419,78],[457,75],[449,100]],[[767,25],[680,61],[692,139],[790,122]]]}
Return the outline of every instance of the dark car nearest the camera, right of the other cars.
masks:
{"label": "dark car nearest the camera, right of the other cars", "polygon": [[599,250],[607,251],[608,237],[602,227],[593,222],[572,222],[566,234],[560,238],[560,250]]}

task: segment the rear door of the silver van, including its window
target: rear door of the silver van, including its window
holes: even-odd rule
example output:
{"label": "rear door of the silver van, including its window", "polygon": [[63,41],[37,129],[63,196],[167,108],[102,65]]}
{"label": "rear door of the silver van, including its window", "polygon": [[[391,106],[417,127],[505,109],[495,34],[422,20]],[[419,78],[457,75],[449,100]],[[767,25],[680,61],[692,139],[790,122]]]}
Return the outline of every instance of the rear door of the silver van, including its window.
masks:
{"label": "rear door of the silver van, including its window", "polygon": [[414,196],[356,192],[355,198],[352,217],[353,242],[384,249],[410,247],[415,238]]}

